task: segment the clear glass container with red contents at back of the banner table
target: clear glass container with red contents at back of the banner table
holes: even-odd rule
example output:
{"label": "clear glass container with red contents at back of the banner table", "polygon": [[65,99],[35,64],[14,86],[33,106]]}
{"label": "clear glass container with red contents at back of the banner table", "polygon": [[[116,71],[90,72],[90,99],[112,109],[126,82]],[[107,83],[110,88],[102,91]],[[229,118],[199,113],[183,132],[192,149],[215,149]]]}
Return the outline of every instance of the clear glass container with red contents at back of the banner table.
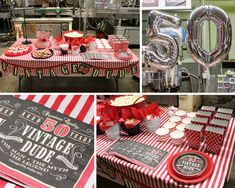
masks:
{"label": "clear glass container with red contents at back of the banner table", "polygon": [[49,48],[51,46],[50,41],[51,31],[36,31],[37,40],[35,42],[36,48]]}

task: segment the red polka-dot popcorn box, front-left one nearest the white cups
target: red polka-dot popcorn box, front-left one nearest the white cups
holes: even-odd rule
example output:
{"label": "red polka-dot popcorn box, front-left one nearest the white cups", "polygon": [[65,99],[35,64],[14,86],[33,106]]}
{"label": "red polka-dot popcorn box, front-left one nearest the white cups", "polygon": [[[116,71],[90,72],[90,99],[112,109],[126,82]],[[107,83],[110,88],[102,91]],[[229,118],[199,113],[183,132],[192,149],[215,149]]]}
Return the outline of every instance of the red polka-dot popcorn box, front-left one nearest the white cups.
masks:
{"label": "red polka-dot popcorn box, front-left one nearest the white cups", "polygon": [[202,141],[202,125],[187,124],[185,126],[185,137],[191,148],[199,149]]}

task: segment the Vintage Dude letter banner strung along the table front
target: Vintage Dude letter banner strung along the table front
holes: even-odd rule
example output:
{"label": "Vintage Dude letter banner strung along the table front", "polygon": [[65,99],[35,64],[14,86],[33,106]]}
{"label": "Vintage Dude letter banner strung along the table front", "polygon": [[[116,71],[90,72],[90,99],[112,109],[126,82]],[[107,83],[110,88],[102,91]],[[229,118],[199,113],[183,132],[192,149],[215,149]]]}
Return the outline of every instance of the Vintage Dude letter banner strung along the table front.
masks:
{"label": "Vintage Dude letter banner strung along the table front", "polygon": [[42,79],[43,76],[58,77],[69,75],[91,75],[91,77],[102,76],[110,79],[116,75],[118,78],[124,78],[129,72],[133,75],[138,72],[137,64],[121,68],[100,68],[91,66],[87,63],[66,63],[64,65],[51,68],[22,68],[17,65],[10,65],[4,61],[2,61],[1,64],[3,72],[12,72],[14,76],[21,75],[27,78],[37,76],[39,79]]}

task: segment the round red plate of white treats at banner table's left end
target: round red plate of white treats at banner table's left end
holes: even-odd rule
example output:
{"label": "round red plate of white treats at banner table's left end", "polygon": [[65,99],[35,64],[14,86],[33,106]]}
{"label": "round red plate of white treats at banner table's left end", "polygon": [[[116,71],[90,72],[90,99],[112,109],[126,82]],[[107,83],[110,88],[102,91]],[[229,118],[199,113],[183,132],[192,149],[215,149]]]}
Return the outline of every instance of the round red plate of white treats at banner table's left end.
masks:
{"label": "round red plate of white treats at banner table's left end", "polygon": [[4,50],[4,54],[6,56],[21,56],[25,55],[29,52],[32,51],[32,46],[30,45],[24,45],[24,44],[18,44],[18,45],[13,45],[7,49]]}

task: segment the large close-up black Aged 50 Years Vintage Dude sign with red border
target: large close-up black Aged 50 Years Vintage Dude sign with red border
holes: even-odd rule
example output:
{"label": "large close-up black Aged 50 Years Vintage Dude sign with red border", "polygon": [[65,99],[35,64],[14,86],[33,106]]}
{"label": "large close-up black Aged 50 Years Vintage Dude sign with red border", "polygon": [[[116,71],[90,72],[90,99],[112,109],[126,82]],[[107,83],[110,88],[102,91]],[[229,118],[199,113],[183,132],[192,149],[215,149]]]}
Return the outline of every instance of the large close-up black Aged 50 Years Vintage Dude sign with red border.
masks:
{"label": "large close-up black Aged 50 Years Vintage Dude sign with red border", "polygon": [[17,181],[77,188],[93,166],[94,130],[37,103],[0,96],[0,150],[1,172]]}

